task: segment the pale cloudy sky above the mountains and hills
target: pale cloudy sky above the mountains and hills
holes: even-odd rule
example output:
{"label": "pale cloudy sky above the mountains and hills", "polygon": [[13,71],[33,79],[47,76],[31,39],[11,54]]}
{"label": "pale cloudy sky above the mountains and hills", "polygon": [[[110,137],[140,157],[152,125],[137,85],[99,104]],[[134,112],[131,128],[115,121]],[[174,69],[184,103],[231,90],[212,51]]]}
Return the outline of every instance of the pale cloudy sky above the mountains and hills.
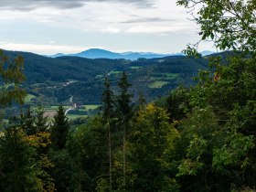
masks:
{"label": "pale cloudy sky above the mountains and hills", "polygon": [[[178,53],[199,27],[176,0],[0,0],[0,48],[37,54]],[[199,51],[215,50],[210,43]]]}

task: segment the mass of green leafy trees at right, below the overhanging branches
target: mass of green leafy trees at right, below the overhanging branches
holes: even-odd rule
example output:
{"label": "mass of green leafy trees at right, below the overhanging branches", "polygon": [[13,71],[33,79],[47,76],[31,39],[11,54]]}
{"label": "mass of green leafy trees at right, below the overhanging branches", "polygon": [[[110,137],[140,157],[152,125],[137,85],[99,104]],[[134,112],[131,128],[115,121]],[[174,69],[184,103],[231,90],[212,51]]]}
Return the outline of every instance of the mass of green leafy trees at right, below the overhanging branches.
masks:
{"label": "mass of green leafy trees at right, below the overhanging branches", "polygon": [[[233,57],[229,65],[218,60],[213,60],[214,72],[201,71],[197,86],[185,94],[188,108],[181,109],[192,110],[177,124],[181,158],[176,176],[192,191],[255,186],[255,59]],[[174,99],[173,93],[167,101]],[[184,106],[184,100],[172,105]]]}

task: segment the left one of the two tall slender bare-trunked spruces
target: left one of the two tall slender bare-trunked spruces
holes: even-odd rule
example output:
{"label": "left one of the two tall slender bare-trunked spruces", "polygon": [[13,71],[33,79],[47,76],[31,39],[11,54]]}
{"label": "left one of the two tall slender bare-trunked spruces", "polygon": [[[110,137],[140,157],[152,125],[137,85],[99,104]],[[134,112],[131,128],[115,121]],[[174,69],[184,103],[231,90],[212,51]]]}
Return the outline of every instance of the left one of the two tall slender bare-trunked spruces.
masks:
{"label": "left one of the two tall slender bare-trunked spruces", "polygon": [[101,101],[103,107],[103,119],[106,121],[108,127],[108,144],[109,144],[109,182],[110,182],[110,190],[112,191],[112,126],[111,126],[111,118],[113,114],[113,93],[111,91],[111,83],[108,78],[105,79],[104,82],[105,91],[102,93]]}

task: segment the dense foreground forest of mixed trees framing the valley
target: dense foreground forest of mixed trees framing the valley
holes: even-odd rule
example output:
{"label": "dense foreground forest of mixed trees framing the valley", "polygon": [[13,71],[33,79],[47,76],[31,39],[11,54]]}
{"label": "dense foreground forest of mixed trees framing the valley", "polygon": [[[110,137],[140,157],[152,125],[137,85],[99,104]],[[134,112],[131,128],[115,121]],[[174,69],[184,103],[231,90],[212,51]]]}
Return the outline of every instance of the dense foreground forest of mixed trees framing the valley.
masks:
{"label": "dense foreground forest of mixed trees framing the valley", "polygon": [[[152,102],[134,98],[131,74],[106,76],[101,112],[80,125],[62,106],[51,121],[39,106],[3,122],[0,191],[255,191],[255,1],[177,4],[201,5],[202,40],[231,53],[206,58],[195,86]],[[185,52],[199,57],[193,46]],[[3,112],[24,102],[23,62],[0,53]]]}

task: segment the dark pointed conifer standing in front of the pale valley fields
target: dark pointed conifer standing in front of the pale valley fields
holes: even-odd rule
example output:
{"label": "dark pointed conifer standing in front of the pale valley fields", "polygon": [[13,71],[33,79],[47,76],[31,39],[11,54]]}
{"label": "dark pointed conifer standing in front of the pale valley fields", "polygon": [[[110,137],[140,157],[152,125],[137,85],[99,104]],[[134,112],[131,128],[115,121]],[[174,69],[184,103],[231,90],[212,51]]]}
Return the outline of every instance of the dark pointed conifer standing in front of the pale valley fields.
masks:
{"label": "dark pointed conifer standing in front of the pale valley fields", "polygon": [[57,114],[54,115],[51,126],[51,144],[53,149],[61,150],[65,148],[68,139],[69,122],[62,106],[59,106]]}

